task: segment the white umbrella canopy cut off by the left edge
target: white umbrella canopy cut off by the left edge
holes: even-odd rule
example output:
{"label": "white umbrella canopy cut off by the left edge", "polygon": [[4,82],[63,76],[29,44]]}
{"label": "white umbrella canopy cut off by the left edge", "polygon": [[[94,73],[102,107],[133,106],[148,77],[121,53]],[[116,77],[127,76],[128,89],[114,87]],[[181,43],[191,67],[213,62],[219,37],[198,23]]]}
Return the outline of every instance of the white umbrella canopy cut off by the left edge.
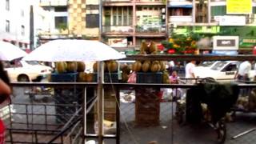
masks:
{"label": "white umbrella canopy cut off by the left edge", "polygon": [[9,42],[0,41],[0,60],[2,61],[12,61],[16,58],[22,58],[26,56],[26,52],[14,46]]}

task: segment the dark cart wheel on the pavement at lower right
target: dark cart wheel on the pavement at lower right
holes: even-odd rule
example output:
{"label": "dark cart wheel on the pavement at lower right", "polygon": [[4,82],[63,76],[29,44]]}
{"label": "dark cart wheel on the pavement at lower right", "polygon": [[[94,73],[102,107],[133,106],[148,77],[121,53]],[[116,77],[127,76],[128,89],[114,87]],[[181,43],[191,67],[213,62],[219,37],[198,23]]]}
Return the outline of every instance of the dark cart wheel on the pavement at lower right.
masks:
{"label": "dark cart wheel on the pavement at lower right", "polygon": [[216,128],[218,134],[218,143],[222,144],[226,140],[226,123],[224,122],[224,120],[220,120],[219,122],[217,122]]}

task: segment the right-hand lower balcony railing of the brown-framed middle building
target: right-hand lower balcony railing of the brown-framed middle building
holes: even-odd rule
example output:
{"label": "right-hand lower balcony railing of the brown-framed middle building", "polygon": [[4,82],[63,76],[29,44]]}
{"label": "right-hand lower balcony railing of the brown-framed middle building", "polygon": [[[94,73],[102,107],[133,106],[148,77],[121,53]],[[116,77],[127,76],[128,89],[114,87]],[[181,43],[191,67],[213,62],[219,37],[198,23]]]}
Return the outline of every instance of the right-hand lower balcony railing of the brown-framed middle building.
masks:
{"label": "right-hand lower balcony railing of the brown-framed middle building", "polygon": [[136,33],[165,33],[166,25],[158,26],[136,26]]}

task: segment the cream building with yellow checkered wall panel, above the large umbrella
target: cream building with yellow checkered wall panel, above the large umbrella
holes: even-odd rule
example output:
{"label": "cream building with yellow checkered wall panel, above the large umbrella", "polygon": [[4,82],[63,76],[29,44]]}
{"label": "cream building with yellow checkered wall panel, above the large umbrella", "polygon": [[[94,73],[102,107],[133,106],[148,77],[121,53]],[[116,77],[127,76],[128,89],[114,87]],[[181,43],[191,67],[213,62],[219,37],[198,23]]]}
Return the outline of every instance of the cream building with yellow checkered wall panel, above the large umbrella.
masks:
{"label": "cream building with yellow checkered wall panel, above the large umbrella", "polygon": [[39,34],[41,42],[56,38],[99,37],[99,6],[95,0],[39,0],[47,10],[50,29]]}

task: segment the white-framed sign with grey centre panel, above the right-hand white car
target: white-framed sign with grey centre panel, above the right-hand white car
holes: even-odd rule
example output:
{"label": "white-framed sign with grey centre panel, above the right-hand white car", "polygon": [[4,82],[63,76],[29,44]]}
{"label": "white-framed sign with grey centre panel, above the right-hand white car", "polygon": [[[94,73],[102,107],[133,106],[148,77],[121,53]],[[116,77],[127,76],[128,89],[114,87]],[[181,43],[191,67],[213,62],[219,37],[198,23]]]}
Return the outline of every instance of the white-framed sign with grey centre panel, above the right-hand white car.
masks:
{"label": "white-framed sign with grey centre panel, above the right-hand white car", "polygon": [[214,36],[214,50],[238,50],[238,36]]}

